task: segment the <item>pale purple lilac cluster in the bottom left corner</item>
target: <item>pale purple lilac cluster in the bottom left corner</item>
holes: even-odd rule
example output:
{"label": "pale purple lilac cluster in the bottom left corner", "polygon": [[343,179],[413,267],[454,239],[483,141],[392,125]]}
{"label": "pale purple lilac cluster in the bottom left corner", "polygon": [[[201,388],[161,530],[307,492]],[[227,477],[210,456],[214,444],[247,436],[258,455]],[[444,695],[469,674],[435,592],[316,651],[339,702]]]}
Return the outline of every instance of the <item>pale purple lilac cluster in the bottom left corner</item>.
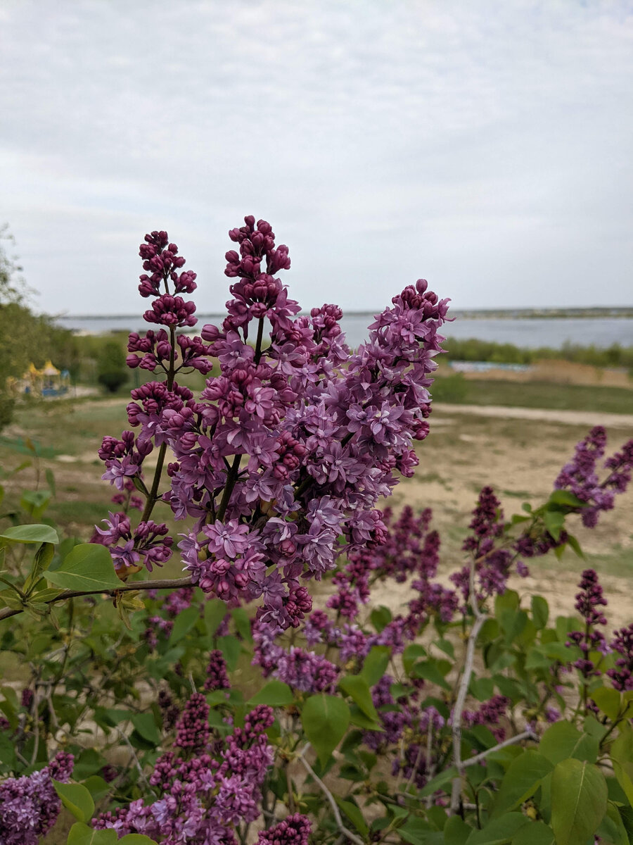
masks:
{"label": "pale purple lilac cluster in the bottom left corner", "polygon": [[24,777],[0,782],[0,842],[3,845],[37,845],[57,820],[62,802],[52,781],[67,782],[73,755],[61,752],[48,766]]}

